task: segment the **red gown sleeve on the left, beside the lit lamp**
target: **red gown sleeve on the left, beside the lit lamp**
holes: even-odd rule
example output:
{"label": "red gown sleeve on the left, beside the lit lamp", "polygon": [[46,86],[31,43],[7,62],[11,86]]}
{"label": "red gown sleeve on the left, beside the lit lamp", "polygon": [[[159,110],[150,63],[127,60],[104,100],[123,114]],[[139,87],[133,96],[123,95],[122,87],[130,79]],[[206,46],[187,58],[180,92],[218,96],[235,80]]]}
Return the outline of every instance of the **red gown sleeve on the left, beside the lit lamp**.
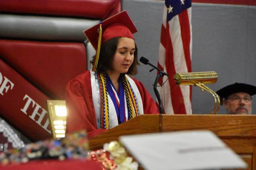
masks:
{"label": "red gown sleeve on the left, beside the lit lamp", "polygon": [[91,138],[106,131],[97,128],[90,72],[87,71],[68,83],[66,107],[68,110],[66,133],[86,129],[88,138]]}

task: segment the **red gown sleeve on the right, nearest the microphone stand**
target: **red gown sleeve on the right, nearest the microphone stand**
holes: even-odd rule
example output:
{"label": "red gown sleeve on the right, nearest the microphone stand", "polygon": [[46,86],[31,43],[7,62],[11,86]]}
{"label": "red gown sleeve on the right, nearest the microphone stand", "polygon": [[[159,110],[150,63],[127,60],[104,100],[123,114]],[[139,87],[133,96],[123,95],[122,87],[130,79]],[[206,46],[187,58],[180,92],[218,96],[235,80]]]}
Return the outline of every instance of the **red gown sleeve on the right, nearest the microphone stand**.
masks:
{"label": "red gown sleeve on the right, nearest the microphone stand", "polygon": [[145,86],[137,79],[135,79],[135,78],[132,78],[132,79],[136,83],[136,85],[139,89],[139,92],[141,94],[141,100],[143,103],[144,114],[160,114],[155,101],[153,100],[153,98],[151,97],[151,95],[149,94],[149,92],[147,91]]}

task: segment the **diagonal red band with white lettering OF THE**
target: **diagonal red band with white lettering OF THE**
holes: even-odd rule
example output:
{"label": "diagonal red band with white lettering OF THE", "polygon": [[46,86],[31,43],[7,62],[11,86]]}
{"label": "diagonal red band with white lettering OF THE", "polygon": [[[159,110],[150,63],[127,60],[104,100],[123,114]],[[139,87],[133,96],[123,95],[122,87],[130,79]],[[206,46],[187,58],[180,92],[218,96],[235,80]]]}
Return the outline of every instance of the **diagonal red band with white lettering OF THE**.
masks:
{"label": "diagonal red band with white lettering OF THE", "polygon": [[[34,120],[30,118],[35,109],[38,113],[47,110],[46,100],[49,98],[0,59],[1,87],[5,88],[0,90],[0,116],[31,140],[50,138],[48,115],[44,114],[42,120],[39,115]],[[27,107],[26,103],[29,104]]]}

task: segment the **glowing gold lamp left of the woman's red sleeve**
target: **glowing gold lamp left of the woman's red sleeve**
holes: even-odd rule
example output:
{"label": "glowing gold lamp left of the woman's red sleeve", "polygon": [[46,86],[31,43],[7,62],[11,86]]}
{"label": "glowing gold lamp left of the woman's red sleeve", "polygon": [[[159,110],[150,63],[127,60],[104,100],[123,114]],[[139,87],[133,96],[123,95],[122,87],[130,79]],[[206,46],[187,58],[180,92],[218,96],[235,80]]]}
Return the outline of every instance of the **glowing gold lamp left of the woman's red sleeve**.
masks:
{"label": "glowing gold lamp left of the woman's red sleeve", "polygon": [[53,139],[64,138],[67,117],[66,101],[47,100],[47,106]]}

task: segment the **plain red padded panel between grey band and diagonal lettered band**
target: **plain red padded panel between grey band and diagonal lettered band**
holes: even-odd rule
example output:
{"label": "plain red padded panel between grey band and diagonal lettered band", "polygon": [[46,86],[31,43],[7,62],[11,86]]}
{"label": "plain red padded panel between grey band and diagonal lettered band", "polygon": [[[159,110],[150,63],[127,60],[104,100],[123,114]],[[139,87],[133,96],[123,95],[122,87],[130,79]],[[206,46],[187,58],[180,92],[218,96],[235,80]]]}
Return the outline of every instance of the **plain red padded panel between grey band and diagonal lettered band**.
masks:
{"label": "plain red padded panel between grey band and diagonal lettered band", "polygon": [[0,40],[0,57],[55,100],[64,100],[68,81],[87,70],[82,43]]}

